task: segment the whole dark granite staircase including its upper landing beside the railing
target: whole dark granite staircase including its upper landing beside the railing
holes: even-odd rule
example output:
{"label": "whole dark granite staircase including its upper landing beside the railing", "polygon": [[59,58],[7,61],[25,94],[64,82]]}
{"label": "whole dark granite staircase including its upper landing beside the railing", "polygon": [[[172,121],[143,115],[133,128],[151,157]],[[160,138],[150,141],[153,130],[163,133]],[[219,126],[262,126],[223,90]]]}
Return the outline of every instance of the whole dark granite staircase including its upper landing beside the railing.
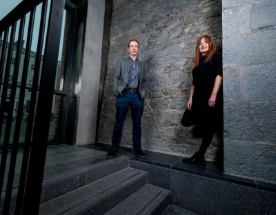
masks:
{"label": "whole dark granite staircase including its upper landing beside the railing", "polygon": [[[17,163],[21,163],[19,154]],[[17,198],[14,176],[10,214]],[[6,187],[6,182],[4,183]],[[5,193],[2,193],[0,215]],[[49,147],[39,215],[190,215],[170,205],[170,191],[148,184],[148,172],[129,167],[129,158],[68,145]]]}

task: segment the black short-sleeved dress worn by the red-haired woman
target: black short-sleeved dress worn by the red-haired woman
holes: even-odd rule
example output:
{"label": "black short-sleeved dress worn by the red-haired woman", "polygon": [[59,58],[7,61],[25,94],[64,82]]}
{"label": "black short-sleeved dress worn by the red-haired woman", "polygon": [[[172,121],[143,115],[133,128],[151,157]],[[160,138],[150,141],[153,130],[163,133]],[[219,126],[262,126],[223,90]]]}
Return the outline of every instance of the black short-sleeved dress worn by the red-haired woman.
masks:
{"label": "black short-sleeved dress worn by the red-haired woman", "polygon": [[208,101],[213,92],[217,75],[222,76],[221,53],[216,52],[207,63],[206,57],[199,59],[199,65],[193,69],[193,94],[192,110],[196,119],[196,125],[200,125],[203,130],[213,132],[217,127],[221,127],[222,112],[222,84],[217,93],[215,107],[209,107]]}

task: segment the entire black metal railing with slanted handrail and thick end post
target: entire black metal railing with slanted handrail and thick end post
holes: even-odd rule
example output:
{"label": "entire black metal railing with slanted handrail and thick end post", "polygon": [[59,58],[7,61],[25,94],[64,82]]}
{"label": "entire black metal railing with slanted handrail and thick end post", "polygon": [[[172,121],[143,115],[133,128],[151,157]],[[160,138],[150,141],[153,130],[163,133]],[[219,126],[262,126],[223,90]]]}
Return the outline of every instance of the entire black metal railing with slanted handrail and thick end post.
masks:
{"label": "entire black metal railing with slanted handrail and thick end post", "polygon": [[[50,8],[47,8],[48,1],[51,1]],[[39,25],[39,37],[37,41],[37,52],[34,63],[34,76],[32,86],[30,87],[27,84],[28,67],[30,62],[32,37],[34,34],[34,17],[36,8],[39,4],[42,4],[42,10]],[[48,133],[51,119],[52,99],[55,92],[55,77],[57,71],[57,59],[59,54],[59,41],[61,37],[61,24],[64,5],[65,0],[24,0],[0,21],[0,39],[3,37],[3,41],[1,41],[0,80],[2,80],[4,76],[3,82],[1,81],[2,92],[0,105],[0,130],[3,128],[8,87],[11,86],[9,96],[10,107],[6,118],[7,121],[1,150],[0,165],[0,198],[3,198],[3,196],[5,197],[3,208],[0,206],[0,214],[3,215],[10,214],[10,212],[14,211],[14,209],[14,214],[17,215],[39,213],[43,171],[46,160]],[[48,9],[50,9],[50,14],[48,17],[48,28],[46,29]],[[29,12],[30,19],[27,25],[26,15]],[[14,48],[14,38],[18,24],[18,39],[16,48]],[[24,58],[21,59],[23,32],[26,27],[28,28],[26,50]],[[45,32],[47,34],[44,48],[45,51],[43,53]],[[14,60],[12,83],[10,85],[10,68],[14,50],[16,50],[16,56]],[[41,61],[42,55],[43,61]],[[23,61],[21,81],[18,80],[20,61]],[[42,70],[40,70],[41,63]],[[39,74],[40,72],[41,74]],[[39,83],[40,75],[41,79]],[[20,86],[18,86],[18,83],[20,83]],[[18,87],[20,87],[20,91],[17,106],[17,119],[15,121],[11,152],[8,152],[8,149],[10,148],[10,132],[13,121],[14,101]],[[25,142],[23,145],[23,158],[21,162],[19,187],[17,196],[12,196],[19,135],[21,132],[21,116],[23,114],[25,92],[28,88],[31,89],[31,98],[28,109],[28,123],[26,127]],[[2,132],[0,132],[0,138],[1,133]],[[10,162],[8,170],[6,170],[8,158],[10,158]],[[8,172],[7,185],[6,189],[3,189],[3,181],[6,172]],[[5,192],[3,192],[3,190],[5,190]],[[12,207],[10,204],[12,198],[16,199],[15,208],[10,208]]]}

